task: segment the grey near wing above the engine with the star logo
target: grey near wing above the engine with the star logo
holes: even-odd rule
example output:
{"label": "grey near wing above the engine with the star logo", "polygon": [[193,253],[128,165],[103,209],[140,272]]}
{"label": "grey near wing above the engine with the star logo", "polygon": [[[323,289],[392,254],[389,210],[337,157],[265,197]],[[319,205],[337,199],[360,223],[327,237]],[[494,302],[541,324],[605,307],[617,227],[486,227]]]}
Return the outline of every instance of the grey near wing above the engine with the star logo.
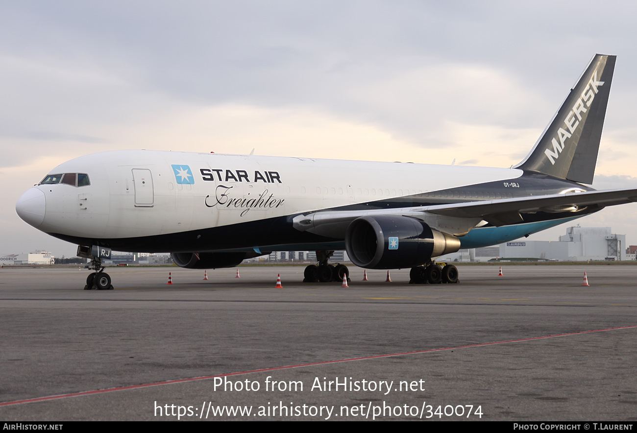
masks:
{"label": "grey near wing above the engine with the star logo", "polygon": [[529,212],[567,212],[590,205],[606,207],[631,202],[637,202],[637,189],[608,189],[397,209],[322,210],[296,216],[292,223],[300,231],[341,238],[358,217],[402,215],[422,219],[441,231],[462,235],[483,220],[494,226],[504,226],[524,222],[520,214]]}

